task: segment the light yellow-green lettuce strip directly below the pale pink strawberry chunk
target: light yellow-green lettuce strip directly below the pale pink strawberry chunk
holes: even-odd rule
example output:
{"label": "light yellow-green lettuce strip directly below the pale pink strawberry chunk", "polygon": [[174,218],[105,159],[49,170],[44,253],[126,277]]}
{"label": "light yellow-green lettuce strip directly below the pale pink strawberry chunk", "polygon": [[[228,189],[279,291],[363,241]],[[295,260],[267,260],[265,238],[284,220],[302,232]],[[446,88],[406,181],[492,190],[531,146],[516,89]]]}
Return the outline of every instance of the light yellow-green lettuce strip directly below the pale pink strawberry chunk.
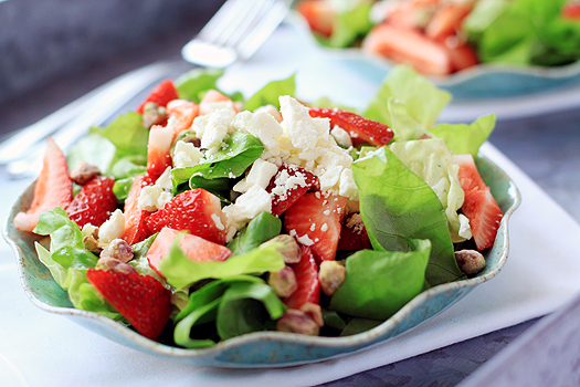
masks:
{"label": "light yellow-green lettuce strip directly below the pale pink strawberry chunk", "polygon": [[280,243],[261,245],[245,254],[230,257],[223,262],[190,261],[177,245],[177,240],[161,261],[161,273],[167,282],[176,289],[189,286],[205,279],[229,279],[242,274],[262,274],[278,271],[285,266],[277,249]]}

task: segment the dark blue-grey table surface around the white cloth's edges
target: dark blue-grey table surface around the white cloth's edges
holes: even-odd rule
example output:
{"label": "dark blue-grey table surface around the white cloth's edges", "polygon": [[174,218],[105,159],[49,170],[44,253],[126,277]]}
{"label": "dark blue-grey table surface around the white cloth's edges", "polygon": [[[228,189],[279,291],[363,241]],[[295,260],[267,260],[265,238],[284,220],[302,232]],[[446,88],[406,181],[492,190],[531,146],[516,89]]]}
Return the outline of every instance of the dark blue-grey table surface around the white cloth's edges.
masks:
{"label": "dark blue-grey table surface around the white cloth's edges", "polygon": [[[0,133],[34,123],[130,69],[178,55],[220,3],[0,2]],[[179,11],[159,18],[166,7]],[[580,221],[580,109],[499,122],[491,142]],[[534,324],[325,386],[455,386]]]}

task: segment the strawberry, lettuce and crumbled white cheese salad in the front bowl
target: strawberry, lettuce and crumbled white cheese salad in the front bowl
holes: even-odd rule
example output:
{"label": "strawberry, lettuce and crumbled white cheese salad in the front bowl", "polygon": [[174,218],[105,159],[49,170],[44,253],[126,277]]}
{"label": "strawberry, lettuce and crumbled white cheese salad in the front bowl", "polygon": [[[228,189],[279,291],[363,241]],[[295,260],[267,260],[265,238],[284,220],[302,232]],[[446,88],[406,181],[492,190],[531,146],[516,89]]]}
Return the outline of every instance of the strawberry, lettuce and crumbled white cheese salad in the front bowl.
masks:
{"label": "strawberry, lettuce and crumbled white cheese salad in the front bowl", "polygon": [[49,139],[13,222],[74,307],[186,348],[351,335],[485,266],[503,215],[474,160],[495,116],[436,125],[450,94],[407,66],[363,112],[221,75],[161,82],[67,157]]}

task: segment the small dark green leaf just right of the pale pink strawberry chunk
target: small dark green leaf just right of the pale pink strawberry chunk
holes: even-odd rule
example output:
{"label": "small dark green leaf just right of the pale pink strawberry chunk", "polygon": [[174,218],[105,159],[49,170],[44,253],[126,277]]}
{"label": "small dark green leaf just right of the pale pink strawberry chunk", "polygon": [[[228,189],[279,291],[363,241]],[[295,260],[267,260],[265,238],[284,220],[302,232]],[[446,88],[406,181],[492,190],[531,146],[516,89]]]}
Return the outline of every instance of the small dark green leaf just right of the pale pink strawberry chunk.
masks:
{"label": "small dark green leaf just right of the pale pink strawberry chunk", "polygon": [[280,234],[282,221],[272,213],[264,211],[252,219],[250,223],[235,237],[228,248],[232,255],[245,254],[265,241]]}

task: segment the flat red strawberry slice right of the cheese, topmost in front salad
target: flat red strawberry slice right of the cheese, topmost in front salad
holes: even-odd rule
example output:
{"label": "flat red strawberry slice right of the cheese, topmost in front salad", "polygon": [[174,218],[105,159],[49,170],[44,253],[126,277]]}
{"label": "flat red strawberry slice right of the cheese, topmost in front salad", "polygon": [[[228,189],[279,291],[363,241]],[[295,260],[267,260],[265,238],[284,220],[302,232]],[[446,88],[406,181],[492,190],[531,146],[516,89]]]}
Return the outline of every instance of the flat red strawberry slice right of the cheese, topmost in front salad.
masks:
{"label": "flat red strawberry slice right of the cheese, topmost in front salad", "polygon": [[370,121],[358,114],[331,109],[310,108],[310,117],[330,118],[330,127],[340,126],[352,138],[352,144],[369,143],[376,146],[387,145],[393,137],[392,129],[384,124]]}

